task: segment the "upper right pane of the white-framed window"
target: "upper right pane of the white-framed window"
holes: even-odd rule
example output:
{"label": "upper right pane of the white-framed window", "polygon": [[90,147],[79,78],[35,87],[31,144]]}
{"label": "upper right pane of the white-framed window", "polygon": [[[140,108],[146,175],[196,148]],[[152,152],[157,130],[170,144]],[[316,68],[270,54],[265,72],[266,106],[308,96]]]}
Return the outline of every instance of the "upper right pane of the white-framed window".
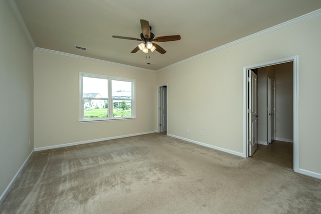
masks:
{"label": "upper right pane of the white-framed window", "polygon": [[131,99],[131,82],[112,80],[112,98]]}

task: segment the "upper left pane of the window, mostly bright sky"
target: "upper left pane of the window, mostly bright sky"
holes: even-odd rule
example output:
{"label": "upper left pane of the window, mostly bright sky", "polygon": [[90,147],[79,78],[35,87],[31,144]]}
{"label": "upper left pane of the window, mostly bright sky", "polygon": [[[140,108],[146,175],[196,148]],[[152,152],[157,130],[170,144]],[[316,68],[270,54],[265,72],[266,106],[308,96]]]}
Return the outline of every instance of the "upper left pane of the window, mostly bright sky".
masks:
{"label": "upper left pane of the window, mostly bright sky", "polygon": [[108,98],[108,80],[82,77],[82,96],[84,98]]}

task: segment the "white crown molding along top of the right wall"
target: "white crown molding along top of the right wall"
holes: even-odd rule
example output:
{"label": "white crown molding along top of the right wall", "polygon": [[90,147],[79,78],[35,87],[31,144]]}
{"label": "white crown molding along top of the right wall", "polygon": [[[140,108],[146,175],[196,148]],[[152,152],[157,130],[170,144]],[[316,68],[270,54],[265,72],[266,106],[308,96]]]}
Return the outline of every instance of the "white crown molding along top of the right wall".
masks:
{"label": "white crown molding along top of the right wall", "polygon": [[206,56],[206,55],[209,55],[209,54],[212,54],[214,52],[217,52],[217,51],[221,51],[223,49],[226,49],[226,48],[229,48],[231,46],[234,46],[234,45],[237,45],[239,43],[242,43],[242,42],[245,42],[245,41],[248,41],[248,40],[251,40],[251,39],[254,39],[256,37],[260,37],[260,36],[263,36],[265,34],[269,34],[273,31],[277,31],[277,30],[280,30],[282,28],[286,28],[288,26],[291,26],[291,25],[294,25],[296,23],[299,23],[299,22],[303,22],[305,20],[308,20],[308,19],[311,19],[313,17],[316,17],[316,16],[319,16],[321,15],[321,9],[318,9],[316,11],[313,11],[313,12],[310,12],[308,14],[305,14],[305,15],[302,15],[300,17],[297,17],[297,18],[294,18],[292,20],[289,20],[289,21],[286,21],[284,23],[281,23],[281,24],[278,24],[276,26],[273,26],[271,28],[267,28],[265,30],[262,30],[262,31],[259,31],[257,33],[254,33],[254,34],[251,34],[249,36],[246,36],[246,37],[243,37],[241,39],[238,39],[238,40],[235,40],[233,42],[230,42],[230,43],[227,43],[225,45],[222,45],[220,47],[217,47],[217,48],[214,48],[212,50],[209,50],[209,51],[206,51],[206,52],[203,52],[201,54],[198,54],[198,55],[195,55],[193,57],[190,57],[190,58],[187,58],[185,60],[182,60],[180,62],[177,62],[177,63],[174,63],[172,65],[169,65],[169,66],[166,66],[164,68],[161,68],[161,69],[158,69],[156,70],[156,72],[159,72],[159,71],[162,71],[162,70],[165,70],[165,69],[168,69],[168,68],[171,68],[171,67],[174,67],[176,65],[179,65],[179,64],[182,64],[182,63],[185,63],[185,62],[188,62],[188,61],[191,61],[191,60],[194,60],[194,59],[197,59],[197,58],[200,58],[200,57],[203,57],[203,56]]}

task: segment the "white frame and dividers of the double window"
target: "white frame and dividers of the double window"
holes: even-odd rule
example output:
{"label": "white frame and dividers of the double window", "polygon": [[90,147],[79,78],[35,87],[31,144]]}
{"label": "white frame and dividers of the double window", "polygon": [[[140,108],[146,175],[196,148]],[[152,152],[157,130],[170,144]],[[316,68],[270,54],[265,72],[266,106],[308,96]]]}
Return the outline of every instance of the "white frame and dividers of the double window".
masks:
{"label": "white frame and dividers of the double window", "polygon": [[[86,98],[83,97],[83,91],[82,91],[83,77],[99,78],[99,79],[108,80],[108,98],[94,98],[94,99],[98,99],[98,100],[108,100],[108,117],[106,117],[106,118],[88,118],[88,119],[84,118],[84,99],[86,99]],[[112,98],[112,90],[111,90],[111,87],[112,87],[111,81],[112,80],[131,82],[131,99]],[[93,98],[90,98],[90,99],[93,99]],[[112,102],[113,100],[129,100],[129,101],[131,101],[131,116],[130,117],[113,117],[113,102]],[[124,119],[132,119],[132,118],[136,118],[135,80],[134,79],[79,72],[79,122],[124,120]]]}

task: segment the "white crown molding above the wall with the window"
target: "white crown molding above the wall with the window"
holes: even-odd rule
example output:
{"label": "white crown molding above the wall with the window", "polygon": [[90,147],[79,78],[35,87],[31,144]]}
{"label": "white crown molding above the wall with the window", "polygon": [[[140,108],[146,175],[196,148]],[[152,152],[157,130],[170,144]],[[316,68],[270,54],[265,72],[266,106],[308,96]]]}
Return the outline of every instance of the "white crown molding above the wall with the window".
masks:
{"label": "white crown molding above the wall with the window", "polygon": [[77,59],[82,59],[82,60],[89,60],[89,61],[98,62],[98,63],[105,63],[105,64],[109,64],[109,65],[115,65],[115,66],[130,68],[130,69],[136,69],[136,70],[141,70],[141,71],[156,72],[156,71],[151,70],[151,69],[140,68],[140,67],[135,67],[135,66],[131,66],[131,65],[125,65],[125,64],[121,64],[121,63],[114,63],[114,62],[110,62],[110,61],[106,61],[106,60],[100,60],[100,59],[91,58],[91,57],[84,57],[84,56],[80,56],[80,55],[76,55],[76,54],[69,54],[69,53],[60,52],[60,51],[54,51],[54,50],[45,49],[45,48],[36,47],[34,50],[42,51],[42,52],[46,52],[46,53],[51,53],[51,54],[58,54],[58,55],[77,58]]}

